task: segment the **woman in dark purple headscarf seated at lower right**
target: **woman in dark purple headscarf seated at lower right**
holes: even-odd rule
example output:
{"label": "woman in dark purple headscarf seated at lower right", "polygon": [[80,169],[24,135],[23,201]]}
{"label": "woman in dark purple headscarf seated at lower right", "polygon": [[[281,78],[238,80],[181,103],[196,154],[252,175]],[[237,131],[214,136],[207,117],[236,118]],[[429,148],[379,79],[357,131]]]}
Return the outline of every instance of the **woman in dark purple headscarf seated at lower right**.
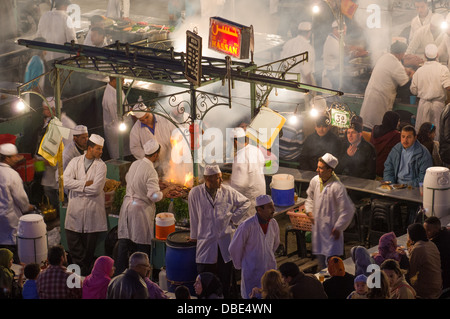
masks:
{"label": "woman in dark purple headscarf seated at lower right", "polygon": [[378,252],[372,255],[376,264],[380,266],[386,259],[394,259],[399,262],[400,268],[408,269],[408,256],[397,245],[397,236],[394,232],[384,234],[378,242]]}

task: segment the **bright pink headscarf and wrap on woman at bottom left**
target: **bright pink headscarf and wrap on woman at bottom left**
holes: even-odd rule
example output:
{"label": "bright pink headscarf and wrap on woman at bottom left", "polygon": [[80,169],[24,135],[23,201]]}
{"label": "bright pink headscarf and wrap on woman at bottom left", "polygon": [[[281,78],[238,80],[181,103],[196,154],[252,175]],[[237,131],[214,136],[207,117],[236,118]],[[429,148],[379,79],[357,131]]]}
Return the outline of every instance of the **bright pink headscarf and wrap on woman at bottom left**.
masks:
{"label": "bright pink headscarf and wrap on woman at bottom left", "polygon": [[114,259],[108,256],[98,257],[92,272],[83,281],[83,299],[106,299],[106,291],[111,281]]}

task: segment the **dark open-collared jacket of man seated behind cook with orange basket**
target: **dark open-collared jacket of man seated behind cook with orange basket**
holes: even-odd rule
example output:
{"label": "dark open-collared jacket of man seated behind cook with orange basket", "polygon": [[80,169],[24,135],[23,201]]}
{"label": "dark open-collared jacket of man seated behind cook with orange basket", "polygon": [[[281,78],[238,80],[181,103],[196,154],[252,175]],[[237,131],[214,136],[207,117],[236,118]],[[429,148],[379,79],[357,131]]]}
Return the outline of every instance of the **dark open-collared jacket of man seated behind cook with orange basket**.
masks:
{"label": "dark open-collared jacket of man seated behind cook with orange basket", "polygon": [[350,143],[348,141],[342,145],[341,153],[338,157],[339,165],[336,167],[336,173],[359,178],[375,179],[375,147],[362,138],[355,155],[348,156],[347,149],[349,146]]}

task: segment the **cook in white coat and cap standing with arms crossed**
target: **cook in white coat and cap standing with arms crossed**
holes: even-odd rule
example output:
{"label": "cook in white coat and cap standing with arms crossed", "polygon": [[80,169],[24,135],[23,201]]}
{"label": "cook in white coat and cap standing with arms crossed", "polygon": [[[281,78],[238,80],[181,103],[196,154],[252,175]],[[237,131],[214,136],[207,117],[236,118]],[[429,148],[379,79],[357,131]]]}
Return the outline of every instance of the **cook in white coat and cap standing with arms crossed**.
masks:
{"label": "cook in white coat and cap standing with arms crossed", "polygon": [[101,160],[104,139],[92,134],[85,155],[70,161],[64,171],[64,187],[69,191],[66,229],[72,261],[87,276],[94,262],[98,235],[108,230],[105,211],[106,164]]}

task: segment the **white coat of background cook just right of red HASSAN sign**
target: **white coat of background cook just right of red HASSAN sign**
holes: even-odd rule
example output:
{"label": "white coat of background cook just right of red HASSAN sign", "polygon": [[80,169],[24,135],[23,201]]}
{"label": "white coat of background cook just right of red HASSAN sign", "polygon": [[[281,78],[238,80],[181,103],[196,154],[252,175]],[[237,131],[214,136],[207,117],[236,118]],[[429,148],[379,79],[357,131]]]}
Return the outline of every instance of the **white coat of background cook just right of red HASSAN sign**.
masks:
{"label": "white coat of background cook just right of red HASSAN sign", "polygon": [[[281,51],[281,59],[289,58],[291,56],[303,53],[305,51],[308,51],[308,61],[300,63],[289,70],[289,73],[300,73],[301,78],[300,82],[304,84],[310,84],[314,85],[315,83],[309,83],[309,80],[307,80],[307,76],[311,75],[313,77],[314,71],[315,71],[315,61],[316,61],[316,54],[313,46],[311,43],[304,38],[303,36],[299,35],[293,39],[290,39],[287,41],[284,46],[283,50]],[[300,58],[297,58],[297,61]],[[286,78],[291,78],[292,76],[287,76]],[[294,78],[296,80],[296,78]]]}

